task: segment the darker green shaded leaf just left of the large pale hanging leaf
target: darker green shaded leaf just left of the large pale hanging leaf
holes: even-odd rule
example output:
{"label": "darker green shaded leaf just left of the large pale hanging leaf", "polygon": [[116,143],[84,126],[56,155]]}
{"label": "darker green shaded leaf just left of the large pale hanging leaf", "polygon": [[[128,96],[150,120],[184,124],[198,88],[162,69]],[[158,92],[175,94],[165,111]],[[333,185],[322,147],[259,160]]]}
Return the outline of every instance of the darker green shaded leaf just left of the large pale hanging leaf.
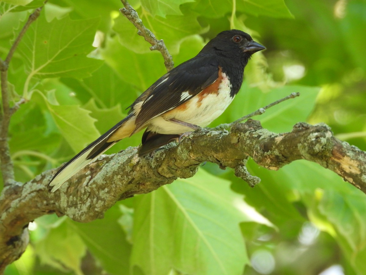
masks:
{"label": "darker green shaded leaf just left of the large pale hanging leaf", "polygon": [[128,274],[131,245],[117,222],[121,215],[118,205],[115,205],[104,213],[103,219],[90,223],[70,222],[88,250],[109,274]]}

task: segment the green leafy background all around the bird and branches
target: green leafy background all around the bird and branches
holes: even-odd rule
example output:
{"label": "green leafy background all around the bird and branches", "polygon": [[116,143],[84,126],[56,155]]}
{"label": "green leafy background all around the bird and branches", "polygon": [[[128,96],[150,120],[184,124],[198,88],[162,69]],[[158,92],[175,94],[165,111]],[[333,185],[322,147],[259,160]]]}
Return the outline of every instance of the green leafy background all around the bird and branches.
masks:
{"label": "green leafy background all around the bird and branches", "polygon": [[[40,0],[0,1],[0,55]],[[249,32],[267,50],[246,67],[242,90],[213,122],[231,122],[284,95],[258,117],[290,131],[326,122],[365,150],[366,3],[362,0],[133,0],[175,64],[218,32]],[[117,0],[50,0],[23,37],[9,71],[16,180],[59,166],[126,115],[165,72],[163,58],[119,13]],[[93,43],[94,41],[94,43]],[[92,47],[92,44],[94,47]],[[107,153],[137,146],[141,135]],[[319,165],[279,171],[249,162],[255,188],[206,164],[197,175],[117,203],[80,224],[44,216],[6,274],[366,274],[366,197]],[[328,273],[329,274],[329,273]]]}

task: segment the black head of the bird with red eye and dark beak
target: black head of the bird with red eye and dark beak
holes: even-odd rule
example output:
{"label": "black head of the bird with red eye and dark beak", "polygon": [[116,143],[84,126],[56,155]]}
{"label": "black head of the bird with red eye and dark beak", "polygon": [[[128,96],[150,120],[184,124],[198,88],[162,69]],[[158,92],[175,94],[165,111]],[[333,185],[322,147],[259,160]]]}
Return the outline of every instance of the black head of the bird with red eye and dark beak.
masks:
{"label": "black head of the bird with red eye and dark beak", "polygon": [[225,30],[217,34],[202,49],[202,53],[216,52],[220,56],[229,58],[250,58],[255,52],[265,49],[261,44],[253,41],[251,36],[241,30]]}

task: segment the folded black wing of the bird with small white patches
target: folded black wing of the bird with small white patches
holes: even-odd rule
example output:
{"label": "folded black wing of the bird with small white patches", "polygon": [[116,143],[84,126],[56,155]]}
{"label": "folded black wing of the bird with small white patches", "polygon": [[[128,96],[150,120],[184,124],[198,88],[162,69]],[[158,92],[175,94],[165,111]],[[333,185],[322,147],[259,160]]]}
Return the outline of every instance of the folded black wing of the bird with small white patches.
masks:
{"label": "folded black wing of the bird with small white patches", "polygon": [[141,129],[149,120],[193,98],[214,83],[219,63],[212,55],[196,56],[175,67],[158,79],[133,104],[143,101],[135,121]]}

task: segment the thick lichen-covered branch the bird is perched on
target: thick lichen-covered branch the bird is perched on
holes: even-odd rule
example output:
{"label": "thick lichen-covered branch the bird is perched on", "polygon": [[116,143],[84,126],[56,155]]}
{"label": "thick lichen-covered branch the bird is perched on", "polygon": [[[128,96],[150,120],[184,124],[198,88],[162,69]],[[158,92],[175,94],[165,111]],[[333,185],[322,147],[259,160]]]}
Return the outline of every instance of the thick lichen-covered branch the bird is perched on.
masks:
{"label": "thick lichen-covered branch the bird is perched on", "polygon": [[248,179],[244,163],[252,157],[268,169],[307,159],[336,172],[366,193],[366,152],[341,142],[324,124],[298,123],[290,133],[273,133],[258,121],[236,124],[231,132],[203,129],[182,143],[170,143],[152,156],[139,158],[129,147],[102,155],[55,193],[48,183],[56,169],[23,186],[7,186],[0,197],[0,267],[7,252],[22,247],[23,228],[44,214],[67,215],[80,222],[101,218],[116,201],[156,190],[178,177],[192,177],[204,161],[235,169]]}

